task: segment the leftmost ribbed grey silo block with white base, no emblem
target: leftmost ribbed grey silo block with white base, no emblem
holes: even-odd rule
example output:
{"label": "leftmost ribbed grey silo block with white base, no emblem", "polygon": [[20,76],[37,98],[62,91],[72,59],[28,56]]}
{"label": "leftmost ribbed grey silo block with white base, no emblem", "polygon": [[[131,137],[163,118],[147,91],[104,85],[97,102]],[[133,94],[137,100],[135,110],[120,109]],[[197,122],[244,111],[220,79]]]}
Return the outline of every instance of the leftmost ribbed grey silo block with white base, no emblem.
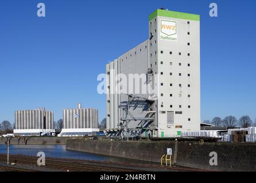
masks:
{"label": "leftmost ribbed grey silo block with white base, no emblem", "polygon": [[52,136],[55,133],[53,112],[45,108],[15,111],[14,136]]}

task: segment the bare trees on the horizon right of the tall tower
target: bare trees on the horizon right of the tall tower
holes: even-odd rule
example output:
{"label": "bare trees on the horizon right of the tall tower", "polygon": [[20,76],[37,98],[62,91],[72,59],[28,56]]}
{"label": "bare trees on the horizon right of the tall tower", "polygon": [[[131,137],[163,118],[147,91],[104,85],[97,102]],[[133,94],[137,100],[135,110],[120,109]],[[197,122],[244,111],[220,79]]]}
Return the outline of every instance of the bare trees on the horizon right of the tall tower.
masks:
{"label": "bare trees on the horizon right of the tall tower", "polygon": [[215,117],[212,121],[204,120],[206,124],[212,124],[217,127],[227,127],[227,128],[248,128],[250,126],[256,126],[255,122],[251,120],[249,116],[242,116],[237,120],[234,116],[227,116],[223,120],[220,117]]}

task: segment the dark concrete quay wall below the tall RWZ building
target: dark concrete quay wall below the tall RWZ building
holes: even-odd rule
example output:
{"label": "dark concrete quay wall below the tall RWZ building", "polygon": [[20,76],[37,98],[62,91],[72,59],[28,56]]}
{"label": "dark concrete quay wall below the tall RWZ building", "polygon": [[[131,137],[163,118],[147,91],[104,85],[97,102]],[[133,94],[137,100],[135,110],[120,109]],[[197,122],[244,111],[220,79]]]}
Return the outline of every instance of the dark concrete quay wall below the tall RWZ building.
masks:
{"label": "dark concrete quay wall below the tall RWZ building", "polygon": [[[158,163],[161,156],[166,154],[167,148],[172,148],[172,164],[177,166],[222,171],[256,171],[256,144],[83,139],[67,140],[66,144],[66,149],[69,150]],[[217,153],[218,165],[210,165],[211,152]]]}

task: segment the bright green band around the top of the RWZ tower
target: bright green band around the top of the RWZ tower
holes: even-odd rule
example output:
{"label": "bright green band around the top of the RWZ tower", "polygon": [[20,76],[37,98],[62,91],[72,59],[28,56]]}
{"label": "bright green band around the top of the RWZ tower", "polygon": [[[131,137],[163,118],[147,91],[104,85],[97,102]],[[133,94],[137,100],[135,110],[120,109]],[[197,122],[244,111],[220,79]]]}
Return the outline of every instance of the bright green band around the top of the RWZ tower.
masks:
{"label": "bright green band around the top of the RWZ tower", "polygon": [[169,10],[156,10],[156,11],[154,11],[152,14],[149,15],[149,21],[156,18],[157,16],[188,19],[188,20],[191,20],[191,21],[200,21],[200,15],[190,14],[190,13],[181,13],[181,12],[169,11]]}

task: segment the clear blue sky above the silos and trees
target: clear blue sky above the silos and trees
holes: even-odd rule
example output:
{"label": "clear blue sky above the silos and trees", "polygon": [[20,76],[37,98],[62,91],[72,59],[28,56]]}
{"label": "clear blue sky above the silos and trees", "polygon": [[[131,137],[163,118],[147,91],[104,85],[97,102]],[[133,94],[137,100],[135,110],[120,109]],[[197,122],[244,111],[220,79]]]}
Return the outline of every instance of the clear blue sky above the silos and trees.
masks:
{"label": "clear blue sky above the silos and trees", "polygon": [[[46,17],[37,17],[37,3]],[[211,18],[209,5],[218,4]],[[201,120],[256,117],[255,1],[0,1],[0,121],[14,111],[84,107],[106,115],[96,77],[148,38],[160,7],[201,15]]]}

